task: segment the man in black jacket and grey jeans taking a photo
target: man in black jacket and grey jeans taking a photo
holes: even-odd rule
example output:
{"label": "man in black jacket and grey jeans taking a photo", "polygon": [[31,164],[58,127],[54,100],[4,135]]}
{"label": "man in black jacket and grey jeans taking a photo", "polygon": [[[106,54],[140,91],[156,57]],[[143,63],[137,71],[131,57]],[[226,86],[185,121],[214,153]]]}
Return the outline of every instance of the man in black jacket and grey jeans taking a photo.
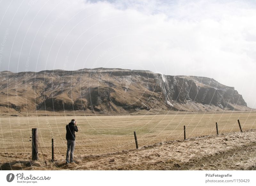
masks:
{"label": "man in black jacket and grey jeans taking a photo", "polygon": [[[76,135],[75,132],[78,132],[78,128],[76,126],[76,120],[72,119],[71,122],[66,125],[66,139],[67,139],[67,156],[66,163],[72,163],[76,145]],[[69,152],[70,152],[70,161],[69,161]]]}

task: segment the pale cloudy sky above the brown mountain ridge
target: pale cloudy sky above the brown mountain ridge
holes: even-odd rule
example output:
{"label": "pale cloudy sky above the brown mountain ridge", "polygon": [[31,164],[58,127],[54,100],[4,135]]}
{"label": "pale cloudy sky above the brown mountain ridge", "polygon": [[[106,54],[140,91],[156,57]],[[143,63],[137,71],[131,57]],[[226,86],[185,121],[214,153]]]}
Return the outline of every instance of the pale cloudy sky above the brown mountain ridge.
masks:
{"label": "pale cloudy sky above the brown mountain ridge", "polygon": [[0,71],[82,68],[210,77],[256,108],[256,2],[0,2]]}

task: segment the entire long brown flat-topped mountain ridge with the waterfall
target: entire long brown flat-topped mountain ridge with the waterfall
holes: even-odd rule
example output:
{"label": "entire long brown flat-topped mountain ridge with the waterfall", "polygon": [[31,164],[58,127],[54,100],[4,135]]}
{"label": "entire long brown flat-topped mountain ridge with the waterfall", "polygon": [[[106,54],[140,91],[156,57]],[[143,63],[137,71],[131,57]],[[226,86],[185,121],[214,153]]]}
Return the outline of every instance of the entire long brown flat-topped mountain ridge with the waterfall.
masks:
{"label": "entire long brown flat-topped mountain ridge with the waterfall", "polygon": [[148,110],[248,110],[243,97],[206,77],[126,69],[1,72],[0,110],[84,110],[123,114]]}

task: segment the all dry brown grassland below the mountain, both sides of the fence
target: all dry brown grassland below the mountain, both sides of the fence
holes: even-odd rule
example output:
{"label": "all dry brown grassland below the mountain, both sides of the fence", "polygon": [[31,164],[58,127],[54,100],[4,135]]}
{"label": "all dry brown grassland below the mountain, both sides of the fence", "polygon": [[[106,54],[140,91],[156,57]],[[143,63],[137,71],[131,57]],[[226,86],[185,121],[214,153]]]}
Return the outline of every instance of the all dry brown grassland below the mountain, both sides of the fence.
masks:
{"label": "all dry brown grassland below the mountain, both sides of the fence", "polygon": [[[79,130],[76,133],[76,163],[66,165],[65,126],[72,118],[77,120]],[[237,119],[246,132],[239,132]],[[250,162],[255,162],[255,119],[256,112],[175,112],[159,115],[74,117],[4,116],[0,117],[0,166],[2,170],[254,169],[256,164]],[[216,135],[215,122],[218,122],[219,136]],[[188,138],[186,141],[183,140],[184,125]],[[39,161],[31,161],[32,144],[29,137],[32,128],[38,128]],[[137,133],[139,150],[135,150],[133,131]],[[51,162],[52,138],[55,163]],[[237,161],[244,159],[247,163],[234,166],[219,162],[218,166],[215,161],[208,165],[209,158],[214,160],[212,156],[216,156],[218,160],[221,160],[221,156],[224,161],[227,159],[224,158],[225,155],[230,158],[236,153],[241,156]],[[204,163],[201,162],[203,160]]]}

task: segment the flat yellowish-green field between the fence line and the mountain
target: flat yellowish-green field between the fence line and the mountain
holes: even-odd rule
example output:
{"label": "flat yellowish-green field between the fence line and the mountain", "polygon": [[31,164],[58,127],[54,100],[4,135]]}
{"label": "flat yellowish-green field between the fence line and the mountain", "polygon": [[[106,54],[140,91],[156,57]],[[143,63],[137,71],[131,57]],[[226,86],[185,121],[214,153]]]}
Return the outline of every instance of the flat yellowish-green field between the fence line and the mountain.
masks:
{"label": "flat yellowish-green field between the fence line and the mountain", "polygon": [[256,129],[256,112],[196,113],[177,112],[166,115],[136,116],[57,116],[57,117],[0,117],[1,163],[31,158],[32,128],[38,128],[39,158],[51,159],[51,139],[54,138],[55,159],[64,160],[66,154],[66,124],[78,122],[75,155],[108,154],[135,148],[133,131],[139,147],[187,138]]}

